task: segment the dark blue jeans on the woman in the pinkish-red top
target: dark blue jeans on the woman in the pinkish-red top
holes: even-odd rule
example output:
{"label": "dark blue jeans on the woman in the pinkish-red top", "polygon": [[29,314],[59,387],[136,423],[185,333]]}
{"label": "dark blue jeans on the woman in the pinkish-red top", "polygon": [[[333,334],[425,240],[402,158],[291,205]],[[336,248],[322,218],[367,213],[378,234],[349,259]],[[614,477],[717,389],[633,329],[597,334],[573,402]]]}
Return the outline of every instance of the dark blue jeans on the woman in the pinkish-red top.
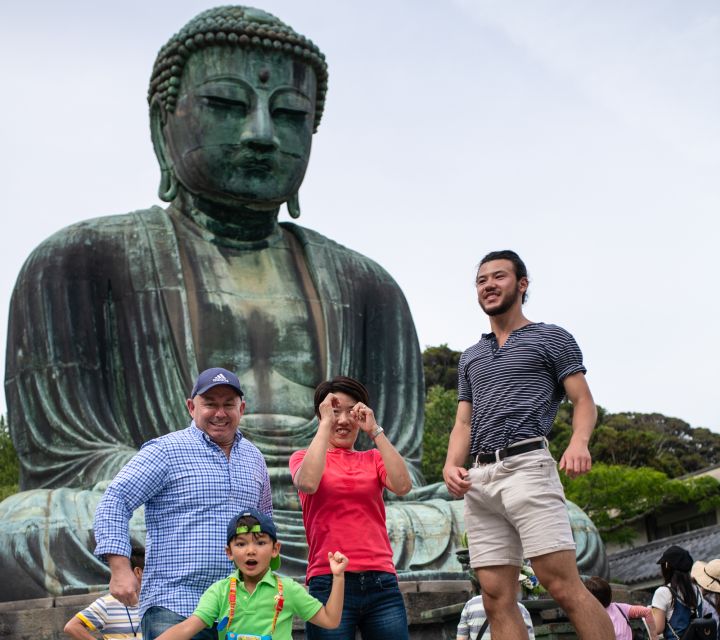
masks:
{"label": "dark blue jeans on the woman in the pinkish-red top", "polygon": [[[310,578],[309,591],[323,604],[330,597],[332,576]],[[363,640],[407,640],[405,601],[397,576],[383,571],[345,573],[343,616],[337,629],[322,629],[309,622],[307,640],[355,640],[360,629]]]}

